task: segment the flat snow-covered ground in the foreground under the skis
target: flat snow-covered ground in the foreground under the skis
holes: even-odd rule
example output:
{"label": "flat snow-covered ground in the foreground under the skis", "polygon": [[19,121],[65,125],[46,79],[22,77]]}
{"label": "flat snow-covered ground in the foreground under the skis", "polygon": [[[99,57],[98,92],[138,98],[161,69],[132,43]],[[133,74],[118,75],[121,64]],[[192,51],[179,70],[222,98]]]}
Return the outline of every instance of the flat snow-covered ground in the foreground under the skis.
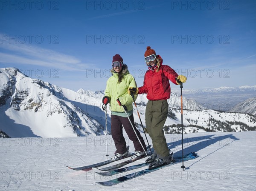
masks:
{"label": "flat snow-covered ground in the foreground under the skis", "polygon": [[[127,136],[126,136],[127,137]],[[122,175],[103,177],[92,171],[67,168],[90,165],[106,160],[115,151],[111,136],[70,138],[1,138],[1,191],[100,191],[100,190],[256,190],[256,131],[201,132],[184,134],[184,154],[198,153],[194,160],[104,187],[96,181],[111,180]],[[151,139],[148,137],[149,143]],[[169,148],[181,155],[181,135],[166,134]],[[127,138],[130,151],[133,144]],[[134,163],[144,162],[145,159]],[[143,169],[143,168],[141,168]],[[139,171],[141,169],[137,169]]]}

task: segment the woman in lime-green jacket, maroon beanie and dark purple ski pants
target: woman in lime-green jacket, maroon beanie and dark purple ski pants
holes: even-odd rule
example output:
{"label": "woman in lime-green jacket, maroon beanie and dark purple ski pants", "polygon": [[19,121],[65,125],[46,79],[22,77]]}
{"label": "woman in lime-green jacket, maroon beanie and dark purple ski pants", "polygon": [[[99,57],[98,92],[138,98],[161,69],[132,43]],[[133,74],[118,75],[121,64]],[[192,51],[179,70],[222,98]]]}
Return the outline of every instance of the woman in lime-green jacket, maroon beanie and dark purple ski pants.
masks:
{"label": "woman in lime-green jacket, maroon beanie and dark purple ski pants", "polygon": [[[126,64],[123,64],[123,59],[119,54],[113,56],[112,60],[112,76],[107,81],[105,96],[102,99],[103,104],[110,103],[111,110],[111,134],[116,146],[114,158],[128,155],[128,150],[125,138],[122,133],[124,127],[129,139],[133,142],[135,148],[135,157],[144,155],[145,142],[141,137],[140,132],[135,128],[133,117],[133,98],[128,94],[129,87],[137,87],[134,77],[129,74]],[[137,95],[134,95],[136,100]],[[125,113],[124,107],[127,108]],[[130,121],[128,120],[128,116]],[[138,140],[134,129],[137,133]],[[141,144],[140,144],[141,143]],[[143,147],[144,149],[143,149]]]}

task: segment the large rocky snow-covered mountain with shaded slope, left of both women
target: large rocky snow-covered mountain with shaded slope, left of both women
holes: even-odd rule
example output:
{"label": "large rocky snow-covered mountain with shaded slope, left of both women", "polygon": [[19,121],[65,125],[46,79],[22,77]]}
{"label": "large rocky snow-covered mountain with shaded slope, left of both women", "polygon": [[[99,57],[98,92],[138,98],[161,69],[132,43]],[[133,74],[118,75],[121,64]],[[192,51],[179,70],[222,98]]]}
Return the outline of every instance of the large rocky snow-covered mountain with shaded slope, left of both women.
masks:
{"label": "large rocky snow-covered mountain with shaded slope, left of both women", "polygon": [[[93,116],[81,94],[1,68],[1,131],[10,137],[102,135],[104,114]],[[99,112],[100,113],[100,112]]]}

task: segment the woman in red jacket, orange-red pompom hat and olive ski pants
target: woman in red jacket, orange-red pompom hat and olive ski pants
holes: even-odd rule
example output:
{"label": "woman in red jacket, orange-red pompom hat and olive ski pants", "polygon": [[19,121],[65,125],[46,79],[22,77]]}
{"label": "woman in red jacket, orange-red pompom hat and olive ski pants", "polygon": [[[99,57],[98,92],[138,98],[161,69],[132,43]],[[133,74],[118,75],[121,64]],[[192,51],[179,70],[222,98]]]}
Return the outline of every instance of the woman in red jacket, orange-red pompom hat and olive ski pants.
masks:
{"label": "woman in red jacket, orange-red pompom hat and olive ski pants", "polygon": [[143,86],[130,87],[129,91],[136,94],[147,94],[148,103],[145,111],[145,123],[149,136],[152,139],[154,154],[146,162],[154,168],[172,160],[163,132],[163,126],[168,116],[171,88],[169,80],[178,85],[186,82],[186,77],[178,75],[171,67],[163,65],[163,59],[150,46],[145,51],[145,61],[148,71],[145,73]]}

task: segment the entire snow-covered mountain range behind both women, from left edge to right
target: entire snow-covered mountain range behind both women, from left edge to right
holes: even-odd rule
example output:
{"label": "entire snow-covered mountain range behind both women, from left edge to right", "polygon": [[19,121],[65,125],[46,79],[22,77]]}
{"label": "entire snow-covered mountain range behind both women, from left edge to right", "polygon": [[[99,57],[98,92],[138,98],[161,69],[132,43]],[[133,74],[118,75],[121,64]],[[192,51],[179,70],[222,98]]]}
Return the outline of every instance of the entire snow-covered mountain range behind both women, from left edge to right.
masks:
{"label": "entire snow-covered mountain range behind both women, from left edge to right", "polygon": [[[0,86],[0,130],[9,137],[74,137],[105,134],[104,91],[77,92],[31,79],[17,68],[2,68]],[[137,109],[145,127],[146,94],[141,94],[134,107],[134,120],[141,129]],[[180,95],[168,100],[169,115],[165,132],[181,132]],[[107,127],[110,132],[109,107]],[[255,130],[256,117],[206,109],[183,96],[185,133],[201,131]],[[141,129],[142,130],[142,129]]]}

